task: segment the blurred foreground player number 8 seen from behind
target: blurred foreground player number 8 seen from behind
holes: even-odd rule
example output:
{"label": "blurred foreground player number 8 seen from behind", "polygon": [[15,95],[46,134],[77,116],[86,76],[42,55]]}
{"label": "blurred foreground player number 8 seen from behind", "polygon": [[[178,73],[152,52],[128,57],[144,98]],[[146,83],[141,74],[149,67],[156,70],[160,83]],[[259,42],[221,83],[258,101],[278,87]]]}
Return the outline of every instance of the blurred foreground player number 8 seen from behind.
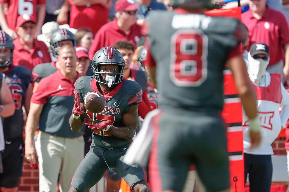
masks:
{"label": "blurred foreground player number 8 seen from behind", "polygon": [[146,63],[159,91],[161,110],[152,118],[154,136],[148,168],[153,192],[182,191],[190,164],[195,164],[207,191],[229,192],[221,118],[226,62],[249,117],[250,147],[260,143],[256,96],[239,47],[243,26],[236,19],[204,15],[210,6],[209,0],[176,0],[174,7],[180,9],[155,11],[148,19]]}

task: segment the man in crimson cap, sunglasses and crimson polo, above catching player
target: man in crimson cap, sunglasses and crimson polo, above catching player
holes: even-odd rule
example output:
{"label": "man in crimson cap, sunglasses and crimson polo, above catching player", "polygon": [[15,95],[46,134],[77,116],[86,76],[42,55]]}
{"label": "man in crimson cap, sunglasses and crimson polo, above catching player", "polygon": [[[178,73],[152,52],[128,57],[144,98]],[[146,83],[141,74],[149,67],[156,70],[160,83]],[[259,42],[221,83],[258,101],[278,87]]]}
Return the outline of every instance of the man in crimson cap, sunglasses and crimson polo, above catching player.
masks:
{"label": "man in crimson cap, sunglasses and crimson polo, above catching player", "polygon": [[105,24],[95,35],[89,49],[89,58],[104,46],[113,46],[117,41],[129,41],[136,46],[141,37],[141,26],[136,24],[136,9],[140,5],[133,1],[118,0],[115,3],[116,18]]}

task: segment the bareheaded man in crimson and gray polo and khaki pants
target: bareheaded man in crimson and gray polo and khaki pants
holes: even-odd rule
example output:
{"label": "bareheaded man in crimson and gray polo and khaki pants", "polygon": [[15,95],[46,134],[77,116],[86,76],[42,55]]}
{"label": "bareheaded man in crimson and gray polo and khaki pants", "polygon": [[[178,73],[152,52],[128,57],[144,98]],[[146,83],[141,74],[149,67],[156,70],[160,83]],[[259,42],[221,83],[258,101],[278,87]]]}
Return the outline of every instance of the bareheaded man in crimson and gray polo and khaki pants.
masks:
{"label": "bareheaded man in crimson and gray polo and khaki pants", "polygon": [[[71,45],[59,51],[59,70],[42,79],[31,98],[25,127],[25,157],[39,161],[39,191],[55,191],[60,173],[60,191],[68,191],[73,174],[83,158],[82,132],[70,129],[69,116],[74,104],[76,53]],[[39,122],[39,135],[34,147],[34,132]]]}

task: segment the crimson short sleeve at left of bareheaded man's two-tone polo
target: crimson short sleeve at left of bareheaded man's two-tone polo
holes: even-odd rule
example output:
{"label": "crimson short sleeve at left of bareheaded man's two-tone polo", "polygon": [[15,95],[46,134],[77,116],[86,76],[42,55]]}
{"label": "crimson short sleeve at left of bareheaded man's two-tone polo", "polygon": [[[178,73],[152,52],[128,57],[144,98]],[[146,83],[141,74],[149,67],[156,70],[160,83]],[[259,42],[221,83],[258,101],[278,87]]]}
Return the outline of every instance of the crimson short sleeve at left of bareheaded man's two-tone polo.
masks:
{"label": "crimson short sleeve at left of bareheaded man's two-tone polo", "polygon": [[40,81],[35,93],[33,93],[30,99],[30,102],[36,104],[46,104],[48,97],[48,92],[46,89],[47,89],[47,82]]}

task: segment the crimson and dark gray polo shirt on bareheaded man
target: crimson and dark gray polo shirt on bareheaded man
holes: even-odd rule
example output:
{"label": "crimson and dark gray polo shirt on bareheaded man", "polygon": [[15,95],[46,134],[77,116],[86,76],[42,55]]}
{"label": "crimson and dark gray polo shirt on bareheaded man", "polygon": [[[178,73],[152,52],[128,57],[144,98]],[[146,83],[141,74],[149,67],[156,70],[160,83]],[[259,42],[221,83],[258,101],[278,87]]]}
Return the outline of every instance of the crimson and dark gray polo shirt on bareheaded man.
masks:
{"label": "crimson and dark gray polo shirt on bareheaded man", "polygon": [[43,104],[39,119],[39,129],[58,137],[79,137],[82,132],[74,133],[69,125],[74,104],[74,83],[64,76],[60,70],[43,78],[33,93],[30,102]]}

